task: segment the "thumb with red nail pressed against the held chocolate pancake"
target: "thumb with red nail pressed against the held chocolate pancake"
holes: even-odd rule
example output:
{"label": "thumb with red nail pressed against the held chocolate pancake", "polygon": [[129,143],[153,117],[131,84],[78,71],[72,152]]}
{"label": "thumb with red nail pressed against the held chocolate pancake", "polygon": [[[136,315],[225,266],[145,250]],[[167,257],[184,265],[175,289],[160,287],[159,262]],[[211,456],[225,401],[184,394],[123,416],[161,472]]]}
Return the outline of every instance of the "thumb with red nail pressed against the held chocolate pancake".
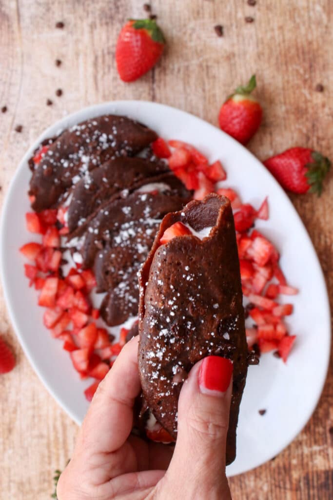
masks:
{"label": "thumb with red nail pressed against the held chocolate pancake", "polygon": [[206,487],[222,481],[229,492],[225,466],[232,372],[232,362],[221,356],[208,356],[191,369],[178,401],[178,436],[168,470],[169,477],[176,474],[172,479],[182,475],[189,484],[193,478],[196,487],[199,477]]}

